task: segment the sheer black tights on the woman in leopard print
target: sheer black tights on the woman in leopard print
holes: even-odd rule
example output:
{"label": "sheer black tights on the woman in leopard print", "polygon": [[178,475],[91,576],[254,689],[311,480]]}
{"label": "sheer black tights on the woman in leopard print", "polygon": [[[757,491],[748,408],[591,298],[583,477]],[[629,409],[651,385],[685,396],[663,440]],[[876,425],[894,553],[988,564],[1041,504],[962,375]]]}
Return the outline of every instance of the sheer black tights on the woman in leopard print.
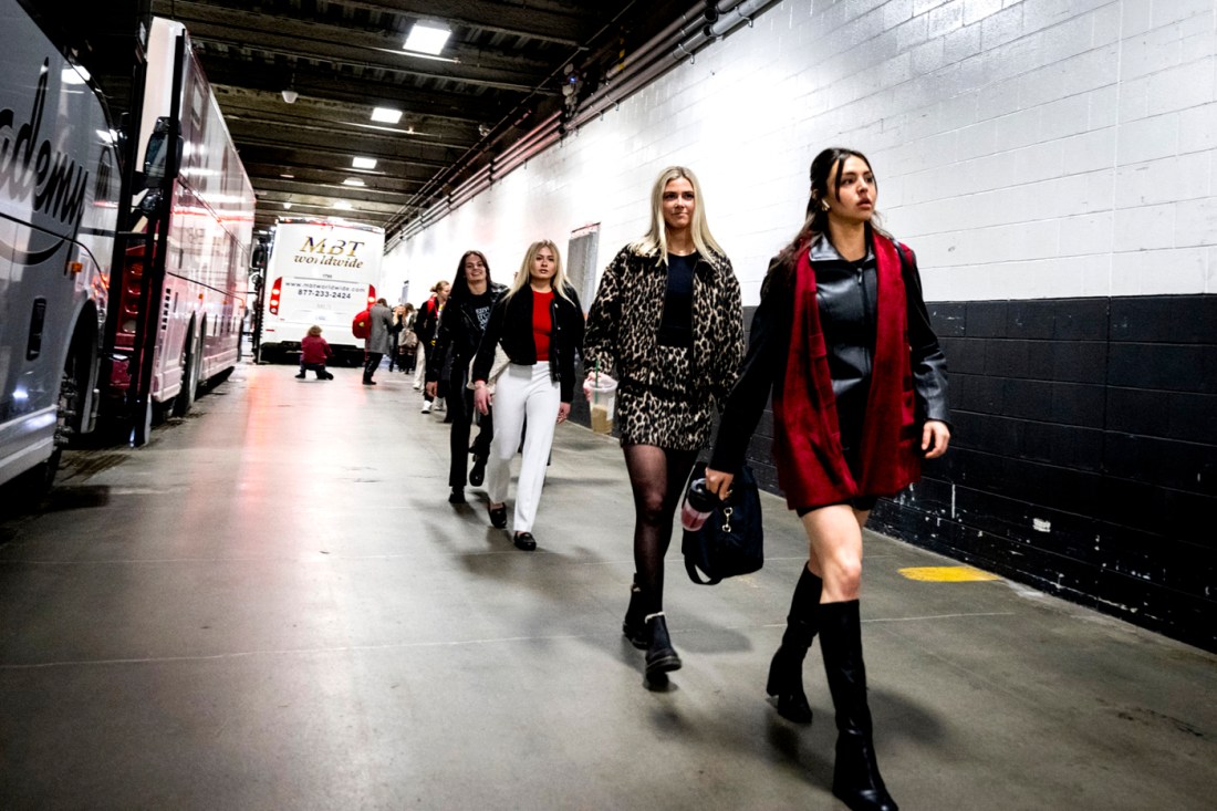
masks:
{"label": "sheer black tights on the woman in leopard print", "polygon": [[654,444],[627,444],[623,449],[634,491],[635,582],[643,589],[644,610],[655,614],[663,610],[663,556],[672,542],[672,518],[697,452]]}

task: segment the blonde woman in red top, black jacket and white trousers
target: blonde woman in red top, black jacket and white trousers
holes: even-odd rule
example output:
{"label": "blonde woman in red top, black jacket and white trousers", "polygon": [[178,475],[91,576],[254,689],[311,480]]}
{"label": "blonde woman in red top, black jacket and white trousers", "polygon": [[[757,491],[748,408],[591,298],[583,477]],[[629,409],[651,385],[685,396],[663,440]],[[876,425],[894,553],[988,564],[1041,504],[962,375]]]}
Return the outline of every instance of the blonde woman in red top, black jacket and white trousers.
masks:
{"label": "blonde woman in red top, black jacket and white trousers", "polygon": [[494,388],[494,440],[486,468],[487,509],[490,524],[507,525],[504,503],[511,483],[511,458],[523,436],[523,462],[516,493],[516,548],[537,548],[532,535],[545,483],[545,465],[554,443],[554,427],[566,421],[574,392],[574,353],[583,343],[583,308],[566,283],[562,258],[550,240],[533,242],[525,255],[511,289],[490,311],[477,358],[473,362],[473,407],[490,413],[487,377],[501,345],[511,360]]}

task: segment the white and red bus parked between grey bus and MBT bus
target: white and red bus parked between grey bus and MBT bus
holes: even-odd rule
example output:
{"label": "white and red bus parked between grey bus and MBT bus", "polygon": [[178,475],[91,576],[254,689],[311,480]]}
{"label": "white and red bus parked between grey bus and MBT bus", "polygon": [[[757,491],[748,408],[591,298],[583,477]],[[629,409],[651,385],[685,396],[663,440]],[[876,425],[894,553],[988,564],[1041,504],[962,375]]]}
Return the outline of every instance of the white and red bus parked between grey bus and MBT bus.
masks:
{"label": "white and red bus parked between grey bus and MBT bus", "polygon": [[[144,245],[127,250],[122,285],[116,291],[120,317],[108,379],[114,399],[130,398],[139,367],[151,369],[148,381],[134,381],[142,382],[141,391],[147,395],[140,404],[144,413],[130,414],[136,425],[142,421],[146,427],[153,410],[172,407],[185,413],[201,384],[221,379],[237,363],[256,201],[219,104],[180,23],[159,17],[152,21],[142,102],[136,166],[159,166],[169,177],[158,190],[159,197],[153,198],[157,203],[147,196],[157,194],[155,189],[139,190],[136,197],[145,209],[168,219],[157,231],[151,258],[145,256]],[[174,130],[180,138],[175,153],[167,140],[150,139],[156,132],[172,136]],[[145,218],[134,230],[146,229]],[[157,262],[163,262],[163,275],[148,273]],[[144,290],[150,279],[156,285],[158,278],[158,290]],[[140,347],[141,296],[148,303],[145,325],[155,335],[144,336]],[[141,351],[146,356],[148,349],[151,360],[141,358]]]}

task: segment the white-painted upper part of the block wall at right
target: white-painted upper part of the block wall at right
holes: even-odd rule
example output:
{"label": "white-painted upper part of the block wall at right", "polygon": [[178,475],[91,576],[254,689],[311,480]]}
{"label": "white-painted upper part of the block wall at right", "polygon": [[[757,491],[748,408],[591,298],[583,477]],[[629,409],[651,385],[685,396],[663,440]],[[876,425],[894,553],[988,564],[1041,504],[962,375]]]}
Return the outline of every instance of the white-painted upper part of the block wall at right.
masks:
{"label": "white-painted upper part of the block wall at right", "polygon": [[753,304],[829,145],[870,156],[931,300],[1217,292],[1217,0],[786,0],[399,246],[387,289],[471,247],[506,281],[589,223],[602,268],[682,163]]}

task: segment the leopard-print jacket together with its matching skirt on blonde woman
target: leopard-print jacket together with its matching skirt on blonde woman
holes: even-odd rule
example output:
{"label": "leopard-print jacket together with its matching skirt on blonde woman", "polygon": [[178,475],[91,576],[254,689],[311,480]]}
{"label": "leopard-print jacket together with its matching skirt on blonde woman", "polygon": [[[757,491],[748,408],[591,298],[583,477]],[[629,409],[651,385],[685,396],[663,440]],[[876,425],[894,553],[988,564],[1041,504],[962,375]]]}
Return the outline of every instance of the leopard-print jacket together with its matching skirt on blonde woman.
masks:
{"label": "leopard-print jacket together with its matching skirt on blonde woman", "polygon": [[740,284],[720,253],[694,269],[692,348],[658,343],[667,267],[658,255],[622,248],[605,269],[588,313],[584,370],[618,381],[622,444],[706,447],[744,357]]}

